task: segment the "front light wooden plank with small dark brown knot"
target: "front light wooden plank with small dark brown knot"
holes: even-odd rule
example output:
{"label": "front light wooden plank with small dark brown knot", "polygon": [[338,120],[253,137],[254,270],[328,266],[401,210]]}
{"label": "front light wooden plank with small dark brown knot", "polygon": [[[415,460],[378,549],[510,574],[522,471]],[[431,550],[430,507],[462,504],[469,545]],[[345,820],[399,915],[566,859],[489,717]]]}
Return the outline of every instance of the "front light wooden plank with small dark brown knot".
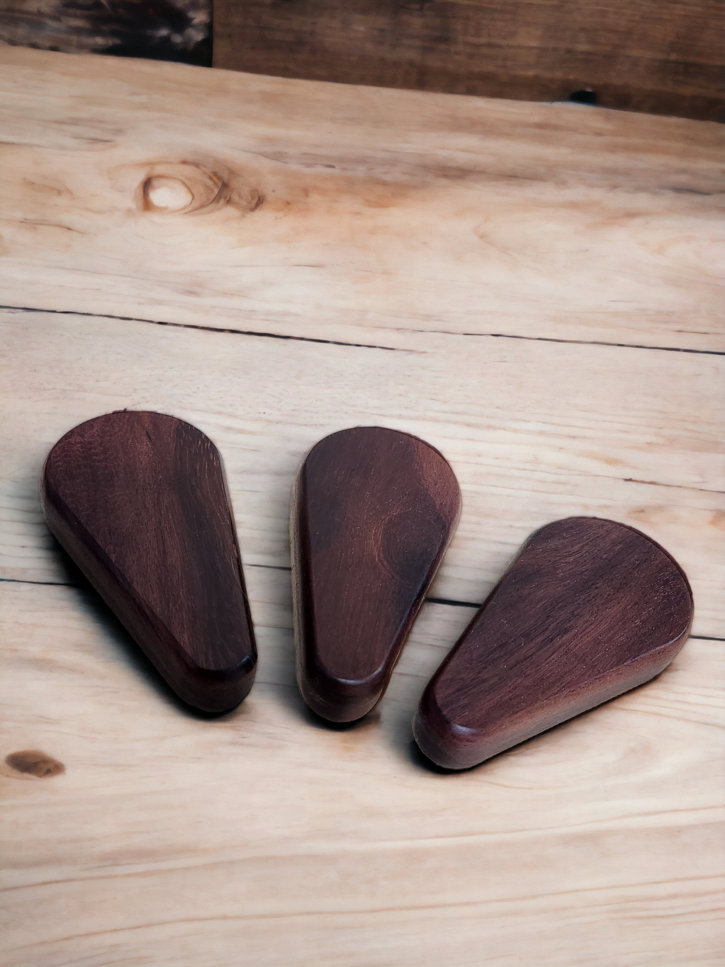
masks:
{"label": "front light wooden plank with small dark brown knot", "polygon": [[3,964],[721,962],[720,644],[690,640],[652,684],[440,775],[410,718],[464,609],[425,604],[378,711],[333,731],[293,684],[286,576],[253,570],[250,589],[259,679],[209,721],[95,596],[0,586],[3,747],[66,765],[0,775]]}

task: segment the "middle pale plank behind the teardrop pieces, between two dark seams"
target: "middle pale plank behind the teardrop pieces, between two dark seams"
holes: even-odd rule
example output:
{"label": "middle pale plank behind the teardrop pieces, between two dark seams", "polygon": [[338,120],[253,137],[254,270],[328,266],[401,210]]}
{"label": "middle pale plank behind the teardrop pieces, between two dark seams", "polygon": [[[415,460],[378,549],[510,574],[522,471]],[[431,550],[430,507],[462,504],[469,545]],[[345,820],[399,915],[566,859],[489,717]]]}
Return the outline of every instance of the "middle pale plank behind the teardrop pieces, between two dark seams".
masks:
{"label": "middle pale plank behind the teardrop pieces, between two dark seams", "polygon": [[694,633],[725,637],[720,356],[428,335],[396,351],[48,313],[0,315],[5,576],[64,580],[38,478],[53,443],[114,409],[198,425],[226,463],[246,565],[289,566],[290,489],[306,451],[390,425],[445,454],[463,513],[433,597],[482,601],[550,520],[632,524],[680,561]]}

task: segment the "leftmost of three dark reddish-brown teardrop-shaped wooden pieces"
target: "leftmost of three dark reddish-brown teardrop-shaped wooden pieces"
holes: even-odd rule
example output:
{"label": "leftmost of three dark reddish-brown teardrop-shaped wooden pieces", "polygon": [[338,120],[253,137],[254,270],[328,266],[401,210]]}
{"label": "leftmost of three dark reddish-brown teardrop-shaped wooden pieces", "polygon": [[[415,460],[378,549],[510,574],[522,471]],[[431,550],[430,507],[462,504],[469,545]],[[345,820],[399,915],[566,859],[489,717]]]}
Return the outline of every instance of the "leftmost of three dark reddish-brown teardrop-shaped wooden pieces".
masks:
{"label": "leftmost of three dark reddish-brown teardrop-shaped wooden pieces", "polygon": [[223,465],[194,426],[122,412],[76,426],[45,460],[47,525],[185,702],[234,708],[256,669]]}

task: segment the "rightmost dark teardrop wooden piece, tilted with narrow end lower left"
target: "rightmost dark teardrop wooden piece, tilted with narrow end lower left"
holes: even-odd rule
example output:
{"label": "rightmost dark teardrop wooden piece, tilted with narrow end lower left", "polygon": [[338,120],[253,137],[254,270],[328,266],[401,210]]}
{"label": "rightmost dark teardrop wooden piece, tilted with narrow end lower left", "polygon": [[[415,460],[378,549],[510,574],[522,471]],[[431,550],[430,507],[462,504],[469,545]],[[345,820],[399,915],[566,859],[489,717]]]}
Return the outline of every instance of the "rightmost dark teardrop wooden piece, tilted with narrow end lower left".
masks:
{"label": "rightmost dark teardrop wooden piece, tilted with narrow end lower left", "polygon": [[413,731],[434,762],[466,769],[642,685],[692,624],[679,565],[598,517],[526,542],[423,691]]}

